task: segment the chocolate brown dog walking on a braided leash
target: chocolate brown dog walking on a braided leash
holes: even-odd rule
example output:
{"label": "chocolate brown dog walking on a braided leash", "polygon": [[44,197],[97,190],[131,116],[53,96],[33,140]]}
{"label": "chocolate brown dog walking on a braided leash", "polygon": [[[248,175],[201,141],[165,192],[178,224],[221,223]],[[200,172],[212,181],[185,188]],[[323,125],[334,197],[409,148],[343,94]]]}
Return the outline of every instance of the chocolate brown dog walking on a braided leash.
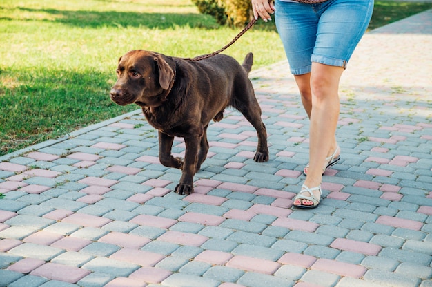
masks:
{"label": "chocolate brown dog walking on a braided leash", "polygon": [[[111,100],[139,105],[159,131],[161,164],[183,170],[176,193],[193,193],[193,176],[207,156],[208,123],[222,120],[228,106],[241,111],[257,130],[254,160],[268,160],[266,127],[248,78],[252,63],[252,53],[243,65],[224,54],[193,62],[145,50],[130,51],[119,59]],[[184,138],[184,162],[171,154],[175,136]]]}

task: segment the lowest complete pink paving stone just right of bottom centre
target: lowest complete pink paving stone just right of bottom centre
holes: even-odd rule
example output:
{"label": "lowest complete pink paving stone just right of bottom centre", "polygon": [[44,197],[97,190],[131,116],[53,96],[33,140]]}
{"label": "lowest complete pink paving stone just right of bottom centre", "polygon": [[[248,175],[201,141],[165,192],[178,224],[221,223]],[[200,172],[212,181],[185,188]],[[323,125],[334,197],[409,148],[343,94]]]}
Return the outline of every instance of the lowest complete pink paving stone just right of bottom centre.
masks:
{"label": "lowest complete pink paving stone just right of bottom centre", "polygon": [[275,273],[276,270],[279,269],[280,264],[270,260],[236,255],[226,263],[226,266],[246,271],[273,275],[273,273]]}

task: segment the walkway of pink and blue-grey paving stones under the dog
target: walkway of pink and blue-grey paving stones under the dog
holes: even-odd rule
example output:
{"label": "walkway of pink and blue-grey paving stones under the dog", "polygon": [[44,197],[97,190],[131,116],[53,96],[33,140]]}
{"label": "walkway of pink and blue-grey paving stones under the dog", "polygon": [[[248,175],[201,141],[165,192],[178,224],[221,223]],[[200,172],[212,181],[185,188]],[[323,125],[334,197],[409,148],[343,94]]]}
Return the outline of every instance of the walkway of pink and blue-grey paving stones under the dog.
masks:
{"label": "walkway of pink and blue-grey paving stones under the dog", "polygon": [[0,286],[432,286],[431,28],[429,10],[362,39],[311,211],[292,206],[308,120],[286,63],[251,73],[271,160],[230,111],[192,195],[139,111],[3,156]]}

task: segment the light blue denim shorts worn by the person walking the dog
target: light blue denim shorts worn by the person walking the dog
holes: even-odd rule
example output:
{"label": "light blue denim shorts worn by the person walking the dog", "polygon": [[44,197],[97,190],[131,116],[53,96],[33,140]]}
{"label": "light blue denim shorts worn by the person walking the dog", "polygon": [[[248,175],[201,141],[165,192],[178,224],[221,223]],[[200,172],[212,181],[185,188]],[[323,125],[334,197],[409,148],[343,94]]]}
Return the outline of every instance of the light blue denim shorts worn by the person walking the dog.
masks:
{"label": "light blue denim shorts worn by the person walking the dog", "polygon": [[275,23],[291,73],[311,72],[312,62],[346,68],[372,12],[373,0],[276,0]]}

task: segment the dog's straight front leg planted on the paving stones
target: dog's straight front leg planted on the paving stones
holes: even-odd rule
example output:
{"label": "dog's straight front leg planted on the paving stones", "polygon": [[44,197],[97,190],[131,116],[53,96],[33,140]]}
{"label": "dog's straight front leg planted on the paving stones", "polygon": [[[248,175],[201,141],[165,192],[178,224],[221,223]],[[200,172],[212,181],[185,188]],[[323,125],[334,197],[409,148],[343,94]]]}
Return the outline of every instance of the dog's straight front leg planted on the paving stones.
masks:
{"label": "dog's straight front leg planted on the paving stones", "polygon": [[175,192],[178,194],[190,194],[193,193],[193,176],[195,175],[198,147],[201,138],[199,136],[186,136],[184,143],[186,145],[186,151],[184,155],[183,173]]}

